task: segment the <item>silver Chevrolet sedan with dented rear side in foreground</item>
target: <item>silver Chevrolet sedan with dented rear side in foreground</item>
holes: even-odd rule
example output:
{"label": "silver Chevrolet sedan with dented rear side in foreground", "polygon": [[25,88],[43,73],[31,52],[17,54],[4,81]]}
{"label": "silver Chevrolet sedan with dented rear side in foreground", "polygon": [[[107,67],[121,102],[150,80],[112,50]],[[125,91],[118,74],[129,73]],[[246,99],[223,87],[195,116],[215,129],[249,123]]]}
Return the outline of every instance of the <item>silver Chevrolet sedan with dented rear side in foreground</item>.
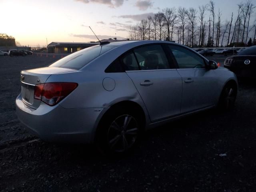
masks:
{"label": "silver Chevrolet sedan with dented rear side in foreground", "polygon": [[120,154],[144,130],[219,106],[234,106],[237,79],[173,42],[96,45],[50,66],[22,70],[19,120],[46,141],[96,143]]}

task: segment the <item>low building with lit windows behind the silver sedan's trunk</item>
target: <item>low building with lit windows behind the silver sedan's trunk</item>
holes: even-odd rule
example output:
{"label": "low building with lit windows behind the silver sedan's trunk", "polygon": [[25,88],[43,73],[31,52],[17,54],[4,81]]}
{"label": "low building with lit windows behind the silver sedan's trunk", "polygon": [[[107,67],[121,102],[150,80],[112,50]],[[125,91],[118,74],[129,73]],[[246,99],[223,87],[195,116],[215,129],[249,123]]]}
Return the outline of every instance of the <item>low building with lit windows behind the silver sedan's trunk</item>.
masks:
{"label": "low building with lit windows behind the silver sedan's trunk", "polygon": [[48,44],[48,53],[73,53],[99,43],[51,42]]}

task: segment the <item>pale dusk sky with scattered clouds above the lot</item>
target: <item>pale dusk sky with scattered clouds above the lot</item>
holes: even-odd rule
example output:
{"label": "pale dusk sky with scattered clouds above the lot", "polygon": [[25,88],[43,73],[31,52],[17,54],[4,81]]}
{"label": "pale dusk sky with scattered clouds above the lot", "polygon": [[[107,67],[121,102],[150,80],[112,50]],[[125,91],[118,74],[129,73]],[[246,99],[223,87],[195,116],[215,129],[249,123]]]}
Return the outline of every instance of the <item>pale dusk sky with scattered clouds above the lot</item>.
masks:
{"label": "pale dusk sky with scattered clouds above the lot", "polygon": [[[237,14],[245,0],[213,0],[222,21]],[[128,29],[142,18],[164,8],[198,8],[207,0],[0,0],[0,33],[21,45],[45,46],[50,42],[97,41],[128,38]],[[208,14],[208,13],[207,13]]]}

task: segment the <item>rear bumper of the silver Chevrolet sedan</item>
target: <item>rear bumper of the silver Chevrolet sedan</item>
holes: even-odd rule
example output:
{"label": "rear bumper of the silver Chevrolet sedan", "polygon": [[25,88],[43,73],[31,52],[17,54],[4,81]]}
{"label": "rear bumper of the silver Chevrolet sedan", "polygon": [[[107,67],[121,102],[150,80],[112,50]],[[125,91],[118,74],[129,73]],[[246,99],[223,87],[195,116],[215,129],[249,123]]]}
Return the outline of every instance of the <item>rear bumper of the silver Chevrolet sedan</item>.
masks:
{"label": "rear bumper of the silver Chevrolet sedan", "polygon": [[42,103],[36,110],[16,98],[16,113],[34,135],[50,142],[91,143],[103,108],[67,109]]}

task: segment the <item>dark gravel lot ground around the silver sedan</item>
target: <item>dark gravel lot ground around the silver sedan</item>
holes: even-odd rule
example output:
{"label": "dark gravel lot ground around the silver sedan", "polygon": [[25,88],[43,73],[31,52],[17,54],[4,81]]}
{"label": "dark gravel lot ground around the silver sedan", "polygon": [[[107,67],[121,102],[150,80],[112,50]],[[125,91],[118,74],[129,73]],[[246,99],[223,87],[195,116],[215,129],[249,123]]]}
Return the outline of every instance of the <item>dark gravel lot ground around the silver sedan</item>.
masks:
{"label": "dark gravel lot ground around the silver sedan", "polygon": [[22,69],[57,56],[0,57],[0,191],[256,191],[256,83],[240,81],[236,107],[147,132],[117,159],[90,146],[31,136],[15,114]]}

